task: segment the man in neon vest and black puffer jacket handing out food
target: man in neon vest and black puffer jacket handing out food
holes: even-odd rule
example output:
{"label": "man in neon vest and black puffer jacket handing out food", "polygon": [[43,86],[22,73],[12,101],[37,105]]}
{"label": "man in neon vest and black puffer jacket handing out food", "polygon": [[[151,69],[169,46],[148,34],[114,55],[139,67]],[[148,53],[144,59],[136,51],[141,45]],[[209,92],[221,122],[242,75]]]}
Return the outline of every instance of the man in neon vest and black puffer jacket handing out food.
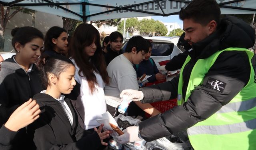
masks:
{"label": "man in neon vest and black puffer jacket handing out food", "polygon": [[195,150],[255,150],[256,77],[247,50],[254,29],[232,16],[220,19],[215,0],[193,0],[180,10],[180,19],[192,46],[180,76],[120,94],[144,103],[178,98],[179,106],[128,127],[119,142],[186,130]]}

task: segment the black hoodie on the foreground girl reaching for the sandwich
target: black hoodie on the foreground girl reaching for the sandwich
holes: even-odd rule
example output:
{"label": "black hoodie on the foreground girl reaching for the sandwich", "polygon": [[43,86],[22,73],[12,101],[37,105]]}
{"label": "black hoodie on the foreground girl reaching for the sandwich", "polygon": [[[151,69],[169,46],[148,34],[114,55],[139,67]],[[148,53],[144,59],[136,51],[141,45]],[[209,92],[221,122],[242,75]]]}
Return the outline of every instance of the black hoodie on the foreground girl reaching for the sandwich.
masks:
{"label": "black hoodie on the foreground girl reaching for the sandwich", "polygon": [[27,127],[38,150],[97,150],[101,146],[96,131],[83,130],[70,100],[65,99],[72,116],[70,125],[68,116],[60,102],[44,93],[33,97],[40,106],[40,117]]}

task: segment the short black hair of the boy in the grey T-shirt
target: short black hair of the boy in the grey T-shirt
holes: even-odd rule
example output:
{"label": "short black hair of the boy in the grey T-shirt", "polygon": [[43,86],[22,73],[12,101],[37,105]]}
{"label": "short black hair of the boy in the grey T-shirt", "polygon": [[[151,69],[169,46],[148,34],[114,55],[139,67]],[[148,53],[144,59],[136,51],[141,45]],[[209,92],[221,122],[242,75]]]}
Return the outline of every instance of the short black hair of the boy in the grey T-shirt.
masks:
{"label": "short black hair of the boy in the grey T-shirt", "polygon": [[133,36],[129,39],[125,52],[132,52],[132,48],[136,48],[137,53],[144,50],[145,53],[148,52],[148,43],[146,39],[142,36]]}

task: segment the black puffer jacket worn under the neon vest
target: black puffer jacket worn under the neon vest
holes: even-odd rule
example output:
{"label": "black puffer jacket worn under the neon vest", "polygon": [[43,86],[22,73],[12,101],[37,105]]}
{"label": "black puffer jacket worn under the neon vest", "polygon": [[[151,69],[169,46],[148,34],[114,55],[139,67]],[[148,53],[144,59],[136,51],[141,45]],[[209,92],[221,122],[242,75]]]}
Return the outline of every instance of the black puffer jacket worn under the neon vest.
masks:
{"label": "black puffer jacket worn under the neon vest", "polygon": [[[218,50],[229,47],[250,48],[254,42],[255,32],[250,25],[231,16],[222,19],[216,32],[192,45],[193,50],[189,52],[191,60],[185,66],[182,74],[184,79],[182,95],[185,96],[192,68],[198,59],[208,58]],[[176,98],[178,78],[140,89],[144,93],[142,102]],[[206,87],[209,78],[226,83],[224,90],[217,92]],[[250,62],[246,52],[222,52],[205,75],[203,84],[196,87],[187,102],[139,124],[142,137],[146,141],[152,141],[185,130],[197,122],[205,120],[223,105],[229,103],[248,83],[249,78]]]}

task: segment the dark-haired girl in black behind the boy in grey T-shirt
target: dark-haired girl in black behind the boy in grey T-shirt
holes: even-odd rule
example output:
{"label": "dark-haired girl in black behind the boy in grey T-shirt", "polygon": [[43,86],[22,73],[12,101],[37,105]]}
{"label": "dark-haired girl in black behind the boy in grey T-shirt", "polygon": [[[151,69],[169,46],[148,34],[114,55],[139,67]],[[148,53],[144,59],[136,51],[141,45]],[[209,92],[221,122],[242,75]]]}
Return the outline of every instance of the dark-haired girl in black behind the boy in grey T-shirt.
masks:
{"label": "dark-haired girl in black behind the boy in grey T-shirt", "polygon": [[110,43],[107,46],[108,52],[104,55],[107,66],[116,56],[123,54],[121,49],[124,37],[120,32],[115,31],[109,35],[109,39]]}

